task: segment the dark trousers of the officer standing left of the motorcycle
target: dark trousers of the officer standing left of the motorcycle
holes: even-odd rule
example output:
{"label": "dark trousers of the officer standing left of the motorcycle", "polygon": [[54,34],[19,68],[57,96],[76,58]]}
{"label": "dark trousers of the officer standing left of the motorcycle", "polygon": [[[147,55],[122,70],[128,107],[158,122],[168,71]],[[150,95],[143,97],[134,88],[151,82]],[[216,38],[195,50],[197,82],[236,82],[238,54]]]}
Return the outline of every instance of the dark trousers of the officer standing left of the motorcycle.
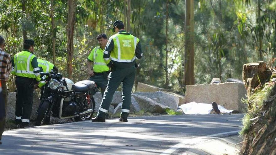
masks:
{"label": "dark trousers of the officer standing left of the motorcycle", "polygon": [[17,89],[17,98],[15,105],[15,116],[20,117],[23,122],[29,122],[34,96],[34,86],[30,85],[33,79],[16,77],[15,85]]}

